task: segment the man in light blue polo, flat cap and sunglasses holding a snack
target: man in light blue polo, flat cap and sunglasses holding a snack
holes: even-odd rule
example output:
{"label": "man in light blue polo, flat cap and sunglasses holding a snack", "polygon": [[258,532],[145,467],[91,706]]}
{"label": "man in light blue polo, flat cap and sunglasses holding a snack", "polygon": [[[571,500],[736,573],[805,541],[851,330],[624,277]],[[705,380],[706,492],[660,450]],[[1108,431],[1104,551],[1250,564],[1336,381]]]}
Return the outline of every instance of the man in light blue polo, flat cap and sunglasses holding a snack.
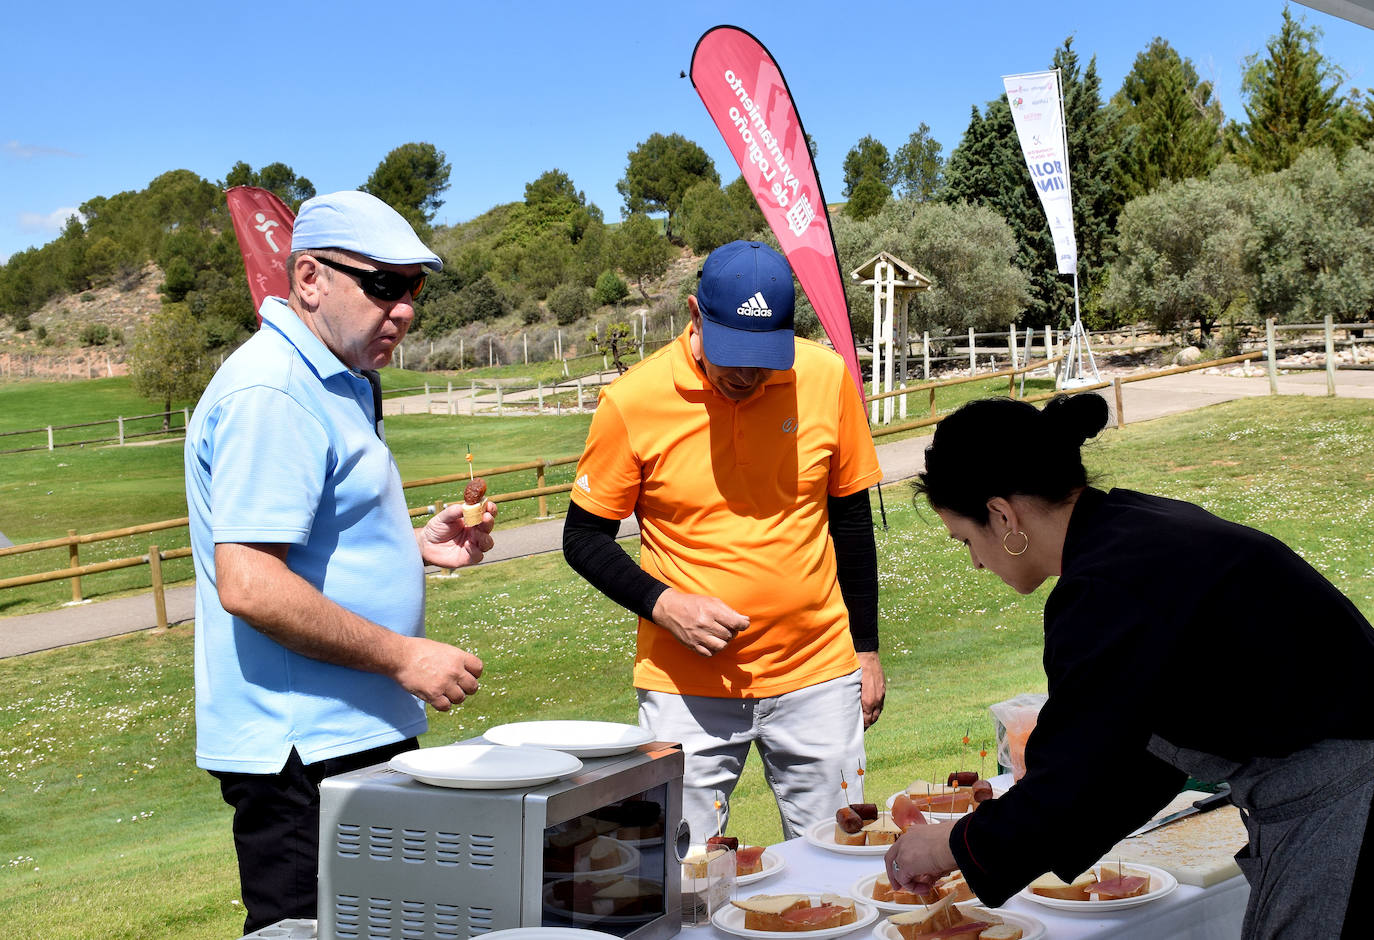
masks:
{"label": "man in light blue polo, flat cap and sunglasses holding a snack", "polygon": [[290,295],[224,361],[185,438],[196,764],[234,807],[245,933],[316,915],[319,783],[409,750],[482,662],[425,638],[425,565],[492,547],[496,506],[411,525],[375,370],[440,258],[390,206],[301,206]]}

